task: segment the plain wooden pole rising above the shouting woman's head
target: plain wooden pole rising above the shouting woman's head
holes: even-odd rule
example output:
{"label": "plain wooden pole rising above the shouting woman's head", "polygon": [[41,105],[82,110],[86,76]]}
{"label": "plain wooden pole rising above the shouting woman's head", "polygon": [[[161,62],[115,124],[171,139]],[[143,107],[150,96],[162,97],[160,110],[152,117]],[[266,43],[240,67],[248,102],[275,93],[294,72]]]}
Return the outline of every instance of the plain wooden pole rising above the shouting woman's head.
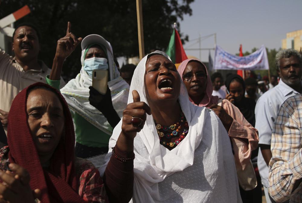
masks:
{"label": "plain wooden pole rising above the shouting woman's head", "polygon": [[140,59],[143,59],[143,57],[145,56],[145,46],[144,46],[144,31],[143,31],[142,0],[136,0],[136,13],[137,13],[138,47],[140,51]]}

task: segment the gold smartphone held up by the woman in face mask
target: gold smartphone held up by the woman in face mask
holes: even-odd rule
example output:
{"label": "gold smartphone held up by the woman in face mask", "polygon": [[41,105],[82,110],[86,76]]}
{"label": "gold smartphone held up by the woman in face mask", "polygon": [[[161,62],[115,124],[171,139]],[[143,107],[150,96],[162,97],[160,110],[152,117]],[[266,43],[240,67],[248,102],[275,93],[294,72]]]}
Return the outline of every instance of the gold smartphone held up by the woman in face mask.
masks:
{"label": "gold smartphone held up by the woman in face mask", "polygon": [[101,94],[106,94],[108,83],[108,70],[93,70],[92,87]]}

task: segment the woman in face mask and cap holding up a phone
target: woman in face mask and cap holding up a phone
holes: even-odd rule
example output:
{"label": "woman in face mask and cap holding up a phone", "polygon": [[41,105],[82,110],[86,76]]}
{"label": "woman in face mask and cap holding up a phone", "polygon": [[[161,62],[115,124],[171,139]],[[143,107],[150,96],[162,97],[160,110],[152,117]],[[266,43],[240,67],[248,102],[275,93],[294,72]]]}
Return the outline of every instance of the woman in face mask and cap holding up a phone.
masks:
{"label": "woman in face mask and cap holding up a phone", "polygon": [[48,84],[58,87],[63,61],[81,41],[81,71],[60,91],[74,121],[76,156],[91,160],[99,167],[102,165],[102,154],[108,152],[112,130],[127,106],[129,84],[120,77],[114,64],[111,44],[96,34],[88,35],[83,40],[76,38],[71,33],[70,22],[66,36],[58,40]]}

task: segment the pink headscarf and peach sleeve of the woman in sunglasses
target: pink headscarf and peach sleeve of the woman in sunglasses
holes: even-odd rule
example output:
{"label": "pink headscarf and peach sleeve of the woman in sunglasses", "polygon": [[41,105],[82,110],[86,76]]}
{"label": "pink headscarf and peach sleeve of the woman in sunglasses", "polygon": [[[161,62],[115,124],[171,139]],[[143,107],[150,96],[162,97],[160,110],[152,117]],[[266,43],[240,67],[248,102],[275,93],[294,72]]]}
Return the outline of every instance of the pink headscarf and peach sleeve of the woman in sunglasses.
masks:
{"label": "pink headscarf and peach sleeve of the woman in sunglasses", "polygon": [[[203,64],[198,59],[187,59],[183,61],[178,67],[178,73],[181,78],[188,62],[190,61],[198,61],[201,64]],[[207,72],[207,68],[205,65],[204,67]],[[254,128],[244,118],[240,110],[236,106],[234,106],[229,100],[226,99],[218,100],[217,96],[212,96],[212,92],[213,92],[213,85],[207,72],[206,94],[198,106],[204,106],[209,108],[212,104],[218,104],[219,106],[222,106],[222,108],[226,111],[226,113],[233,118],[233,123],[228,133],[233,143],[233,148],[235,153],[234,156],[236,159],[235,161],[239,162],[240,165],[242,166],[242,169],[244,170],[246,165],[249,164],[252,150],[256,149],[258,146],[258,142],[259,142],[258,130]],[[196,105],[191,100],[191,98],[190,101],[194,105]],[[247,139],[248,141],[244,141],[244,139]]]}

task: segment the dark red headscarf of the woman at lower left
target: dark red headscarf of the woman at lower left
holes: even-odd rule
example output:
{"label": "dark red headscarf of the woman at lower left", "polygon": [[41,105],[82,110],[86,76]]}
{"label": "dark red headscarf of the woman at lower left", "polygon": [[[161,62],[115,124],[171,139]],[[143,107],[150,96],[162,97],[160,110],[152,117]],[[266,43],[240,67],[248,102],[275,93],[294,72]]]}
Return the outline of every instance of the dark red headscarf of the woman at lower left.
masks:
{"label": "dark red headscarf of the woman at lower left", "polygon": [[[27,123],[26,102],[28,91],[33,87],[47,87],[59,97],[65,115],[65,135],[62,135],[53,156],[50,167],[41,166],[37,149]],[[62,124],[63,125],[63,124]],[[9,161],[25,168],[31,177],[31,189],[40,189],[41,202],[85,202],[78,194],[78,181],[75,171],[74,144],[75,134],[72,117],[63,96],[47,84],[35,83],[22,90],[13,100],[8,114]]]}

